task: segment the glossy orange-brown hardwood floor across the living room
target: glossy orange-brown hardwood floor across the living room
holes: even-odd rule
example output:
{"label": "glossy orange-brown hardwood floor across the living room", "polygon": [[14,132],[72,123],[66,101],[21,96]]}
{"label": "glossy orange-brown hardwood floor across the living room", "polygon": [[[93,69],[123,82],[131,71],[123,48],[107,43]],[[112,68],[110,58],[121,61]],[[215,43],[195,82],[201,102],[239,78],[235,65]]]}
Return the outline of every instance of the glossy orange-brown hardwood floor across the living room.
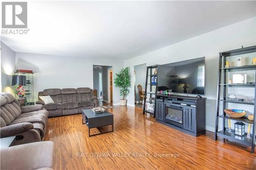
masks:
{"label": "glossy orange-brown hardwood floor across the living room", "polygon": [[256,169],[249,148],[215,141],[212,132],[193,137],[140,108],[108,110],[114,132],[90,138],[81,114],[49,118],[45,139],[54,142],[54,169]]}

